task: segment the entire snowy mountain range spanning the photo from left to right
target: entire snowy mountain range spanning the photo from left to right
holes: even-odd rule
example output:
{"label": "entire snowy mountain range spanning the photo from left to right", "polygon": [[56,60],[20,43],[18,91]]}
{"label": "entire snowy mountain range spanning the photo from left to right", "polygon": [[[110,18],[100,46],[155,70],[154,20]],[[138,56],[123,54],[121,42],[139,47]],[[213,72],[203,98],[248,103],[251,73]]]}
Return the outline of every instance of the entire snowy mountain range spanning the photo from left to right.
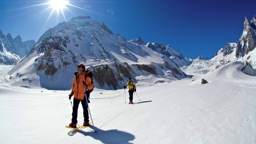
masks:
{"label": "entire snowy mountain range spanning the photo from left to right", "polygon": [[0,63],[14,64],[25,56],[9,72],[12,83],[24,87],[68,90],[76,65],[83,63],[93,71],[97,88],[117,89],[122,88],[129,77],[134,81],[143,75],[177,80],[187,77],[182,70],[207,73],[229,61],[247,60],[255,64],[255,25],[256,16],[250,22],[246,18],[238,42],[227,43],[211,60],[203,56],[192,60],[184,58],[170,45],[146,43],[140,36],[128,40],[112,33],[104,22],[79,16],[47,30],[36,43],[22,42],[20,36],[13,39],[0,31],[1,57],[10,58]]}

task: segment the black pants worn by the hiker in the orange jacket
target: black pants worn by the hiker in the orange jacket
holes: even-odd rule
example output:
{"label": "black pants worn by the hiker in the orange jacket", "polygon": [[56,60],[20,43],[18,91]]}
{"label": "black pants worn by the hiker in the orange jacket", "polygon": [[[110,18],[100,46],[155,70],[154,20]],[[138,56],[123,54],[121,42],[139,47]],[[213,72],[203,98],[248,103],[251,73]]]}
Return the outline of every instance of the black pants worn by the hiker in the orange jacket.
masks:
{"label": "black pants worn by the hiker in the orange jacket", "polygon": [[[89,97],[90,93],[88,93],[86,91],[86,95],[87,95],[87,97]],[[73,100],[74,106],[73,106],[72,120],[71,120],[73,123],[77,123],[77,111],[78,111],[78,106],[79,106],[80,101],[81,101],[81,104],[82,104],[82,107],[83,107],[83,118],[84,118],[84,121],[89,122],[88,106],[87,106],[87,103],[86,103],[86,98],[84,97],[83,100],[75,99],[75,98]]]}

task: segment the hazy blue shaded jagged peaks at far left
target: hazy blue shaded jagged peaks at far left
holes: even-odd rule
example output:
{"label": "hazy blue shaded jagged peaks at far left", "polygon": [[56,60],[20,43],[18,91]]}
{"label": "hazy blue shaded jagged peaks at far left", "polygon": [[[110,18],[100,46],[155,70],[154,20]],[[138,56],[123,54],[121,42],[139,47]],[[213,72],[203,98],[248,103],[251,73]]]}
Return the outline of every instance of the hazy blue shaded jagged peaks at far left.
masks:
{"label": "hazy blue shaded jagged peaks at far left", "polygon": [[35,45],[34,40],[27,40],[22,42],[21,36],[18,35],[15,38],[10,33],[3,34],[0,30],[0,38],[6,51],[18,55],[20,58],[24,57],[30,49]]}

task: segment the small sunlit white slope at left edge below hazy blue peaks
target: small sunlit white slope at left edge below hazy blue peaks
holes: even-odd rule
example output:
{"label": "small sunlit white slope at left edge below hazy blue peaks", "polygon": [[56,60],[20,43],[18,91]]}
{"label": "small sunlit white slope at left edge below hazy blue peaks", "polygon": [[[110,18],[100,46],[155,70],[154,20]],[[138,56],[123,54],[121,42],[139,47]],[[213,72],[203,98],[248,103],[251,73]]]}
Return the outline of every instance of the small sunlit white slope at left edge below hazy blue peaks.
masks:
{"label": "small sunlit white slope at left edge below hazy blue peaks", "polygon": [[16,54],[6,51],[0,38],[0,65],[14,65],[19,59],[19,56]]}

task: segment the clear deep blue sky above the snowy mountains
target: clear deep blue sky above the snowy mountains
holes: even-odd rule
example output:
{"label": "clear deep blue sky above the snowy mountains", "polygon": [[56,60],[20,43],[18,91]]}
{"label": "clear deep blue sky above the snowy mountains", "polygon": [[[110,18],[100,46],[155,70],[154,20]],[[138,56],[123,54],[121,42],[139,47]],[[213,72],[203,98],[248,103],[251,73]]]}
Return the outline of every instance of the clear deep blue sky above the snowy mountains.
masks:
{"label": "clear deep blue sky above the snowy mountains", "polygon": [[[45,25],[52,9],[41,12],[49,5],[13,9],[45,2],[1,0],[1,31],[11,33],[13,37],[21,35],[22,41],[37,41],[47,29],[65,21],[63,16],[59,15],[57,19],[54,12]],[[146,43],[166,43],[189,58],[212,57],[227,42],[238,41],[245,17],[251,20],[256,15],[256,2],[248,0],[70,0],[70,4],[102,14],[67,6],[76,16],[89,15],[97,22],[105,22],[113,33],[120,33],[127,39],[137,39],[140,35]],[[64,14],[67,20],[74,17],[67,10]]]}

